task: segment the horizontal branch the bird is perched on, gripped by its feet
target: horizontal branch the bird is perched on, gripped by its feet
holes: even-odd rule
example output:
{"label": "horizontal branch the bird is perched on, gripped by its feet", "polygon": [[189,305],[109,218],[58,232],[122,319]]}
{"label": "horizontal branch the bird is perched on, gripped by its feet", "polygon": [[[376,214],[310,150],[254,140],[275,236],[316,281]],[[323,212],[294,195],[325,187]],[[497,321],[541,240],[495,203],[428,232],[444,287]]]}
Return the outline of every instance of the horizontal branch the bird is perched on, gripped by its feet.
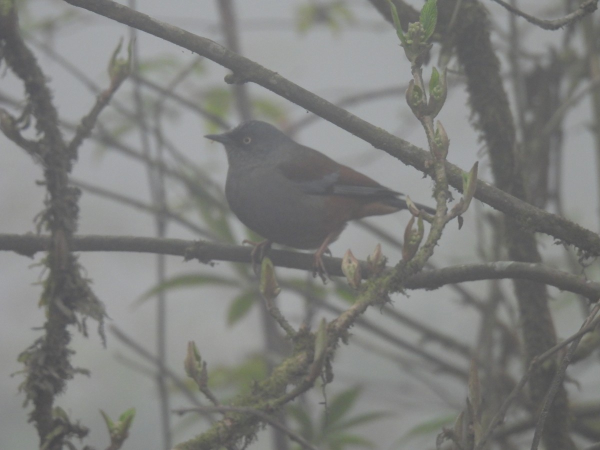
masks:
{"label": "horizontal branch the bird is perched on, gripped by its feet", "polygon": [[[38,251],[46,251],[49,236],[0,235],[0,251],[14,251],[33,257]],[[219,244],[208,241],[187,241],[185,239],[139,238],[134,236],[79,235],[73,237],[73,251],[128,251],[159,253],[181,256],[186,260],[198,259],[203,263],[228,261],[250,263],[250,247]],[[298,251],[275,250],[269,253],[274,265],[289,269],[311,271],[313,255]],[[330,275],[344,277],[341,272],[341,259],[323,257],[325,268]],[[362,273],[368,274],[366,262],[361,262]],[[387,269],[389,270],[389,268]],[[443,269],[425,270],[407,278],[406,289],[437,289],[445,284],[465,281],[500,280],[515,278],[537,281],[560,290],[566,290],[589,299],[600,297],[600,283],[578,275],[548,268],[539,263],[498,261],[487,264],[465,264]]]}

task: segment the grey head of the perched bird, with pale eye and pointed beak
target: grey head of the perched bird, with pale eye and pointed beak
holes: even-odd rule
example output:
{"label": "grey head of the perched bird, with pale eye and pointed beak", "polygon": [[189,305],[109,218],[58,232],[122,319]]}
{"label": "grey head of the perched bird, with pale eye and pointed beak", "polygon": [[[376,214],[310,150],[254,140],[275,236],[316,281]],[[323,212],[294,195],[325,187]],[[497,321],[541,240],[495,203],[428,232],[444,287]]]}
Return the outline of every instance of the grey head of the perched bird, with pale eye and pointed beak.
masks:
{"label": "grey head of the perched bird, with pale eye and pointed beak", "polygon": [[223,134],[205,137],[222,143],[229,164],[250,164],[251,161],[272,160],[275,154],[289,148],[289,137],[273,125],[261,121],[246,121]]}

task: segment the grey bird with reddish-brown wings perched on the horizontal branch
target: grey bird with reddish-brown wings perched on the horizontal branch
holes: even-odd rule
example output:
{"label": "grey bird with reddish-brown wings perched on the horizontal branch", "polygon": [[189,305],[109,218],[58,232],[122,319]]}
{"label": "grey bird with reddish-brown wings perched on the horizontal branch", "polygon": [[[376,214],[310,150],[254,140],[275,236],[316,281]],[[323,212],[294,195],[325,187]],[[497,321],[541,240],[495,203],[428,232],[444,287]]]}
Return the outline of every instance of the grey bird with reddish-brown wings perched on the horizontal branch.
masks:
{"label": "grey bird with reddish-brown wings perched on the horizontal branch", "polygon": [[[276,243],[314,250],[313,274],[325,281],[322,256],[350,220],[408,209],[391,190],[325,154],[295,142],[274,125],[250,120],[222,134],[207,134],[227,153],[225,196],[248,228],[265,238],[253,263]],[[428,214],[433,208],[416,204]]]}

